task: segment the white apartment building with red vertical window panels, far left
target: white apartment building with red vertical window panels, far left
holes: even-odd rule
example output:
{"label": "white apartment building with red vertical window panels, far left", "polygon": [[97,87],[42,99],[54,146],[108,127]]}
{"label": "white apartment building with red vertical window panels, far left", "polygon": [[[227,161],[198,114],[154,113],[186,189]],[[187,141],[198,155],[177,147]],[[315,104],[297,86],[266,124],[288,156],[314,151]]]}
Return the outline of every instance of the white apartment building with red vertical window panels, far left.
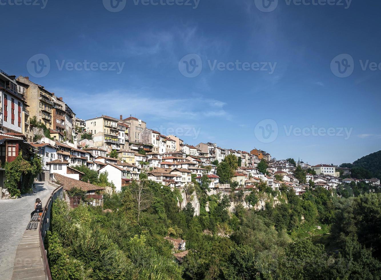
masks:
{"label": "white apartment building with red vertical window panels, far left", "polygon": [[0,130],[22,133],[28,141],[32,141],[29,111],[26,110],[26,87],[18,83],[16,76],[10,76],[0,70]]}

